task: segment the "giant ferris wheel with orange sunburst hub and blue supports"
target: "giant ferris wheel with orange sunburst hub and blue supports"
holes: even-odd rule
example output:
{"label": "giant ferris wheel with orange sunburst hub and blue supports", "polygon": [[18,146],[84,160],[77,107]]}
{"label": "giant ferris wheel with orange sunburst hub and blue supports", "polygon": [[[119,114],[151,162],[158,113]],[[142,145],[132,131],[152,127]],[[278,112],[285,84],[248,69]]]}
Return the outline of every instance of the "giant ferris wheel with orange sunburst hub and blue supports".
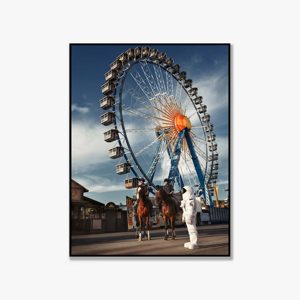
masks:
{"label": "giant ferris wheel with orange sunburst hub and blue supports", "polygon": [[101,123],[113,126],[104,140],[113,143],[109,157],[119,158],[116,173],[126,174],[125,187],[141,176],[153,188],[168,178],[175,192],[196,186],[196,195],[213,206],[217,144],[192,79],[165,53],[138,46],[116,57],[105,80]]}

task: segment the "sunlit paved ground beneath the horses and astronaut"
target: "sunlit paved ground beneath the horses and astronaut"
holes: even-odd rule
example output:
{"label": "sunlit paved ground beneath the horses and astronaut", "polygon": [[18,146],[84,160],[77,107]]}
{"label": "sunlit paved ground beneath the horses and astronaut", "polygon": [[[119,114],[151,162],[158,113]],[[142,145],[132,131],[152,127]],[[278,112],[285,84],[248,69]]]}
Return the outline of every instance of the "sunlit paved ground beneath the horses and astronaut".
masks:
{"label": "sunlit paved ground beneath the horses and astronaut", "polygon": [[[198,249],[184,248],[187,228],[175,228],[176,238],[164,240],[164,228],[150,230],[150,240],[138,241],[135,232],[113,232],[71,236],[71,255],[223,255],[229,254],[228,224],[197,226]],[[171,229],[169,229],[169,234]]]}

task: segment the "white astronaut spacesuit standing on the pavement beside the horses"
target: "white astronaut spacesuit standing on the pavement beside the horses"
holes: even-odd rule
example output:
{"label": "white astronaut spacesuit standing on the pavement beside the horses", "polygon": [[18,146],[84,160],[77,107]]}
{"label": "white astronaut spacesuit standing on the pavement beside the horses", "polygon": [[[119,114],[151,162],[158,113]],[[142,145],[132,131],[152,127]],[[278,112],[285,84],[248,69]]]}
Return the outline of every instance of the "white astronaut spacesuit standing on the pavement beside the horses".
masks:
{"label": "white astronaut spacesuit standing on the pavement beside the horses", "polygon": [[180,207],[183,210],[182,222],[185,221],[188,234],[189,242],[184,243],[184,247],[189,249],[198,248],[198,231],[196,227],[196,215],[195,210],[195,196],[191,186],[183,186],[181,189],[182,201]]}

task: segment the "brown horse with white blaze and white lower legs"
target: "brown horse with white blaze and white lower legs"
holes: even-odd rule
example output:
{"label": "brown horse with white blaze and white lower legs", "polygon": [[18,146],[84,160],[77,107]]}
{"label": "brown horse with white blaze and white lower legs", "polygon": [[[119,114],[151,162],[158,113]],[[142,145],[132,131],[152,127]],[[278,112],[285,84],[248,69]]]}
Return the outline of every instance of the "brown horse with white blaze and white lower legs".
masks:
{"label": "brown horse with white blaze and white lower legs", "polygon": [[[139,204],[138,204],[138,207],[137,207],[138,222],[136,222],[136,234],[135,234],[135,237],[137,237],[137,234],[138,234],[138,231],[139,231],[138,240],[141,240],[141,231],[142,231],[142,229],[144,230],[144,237],[146,237],[145,221],[147,221],[148,239],[150,239],[150,233],[149,233],[149,214],[150,214],[150,211],[151,211],[151,205],[152,205],[152,203],[145,196],[143,188],[142,188],[141,185],[137,185],[136,199],[139,199]],[[136,220],[136,217],[135,217],[135,220]]]}

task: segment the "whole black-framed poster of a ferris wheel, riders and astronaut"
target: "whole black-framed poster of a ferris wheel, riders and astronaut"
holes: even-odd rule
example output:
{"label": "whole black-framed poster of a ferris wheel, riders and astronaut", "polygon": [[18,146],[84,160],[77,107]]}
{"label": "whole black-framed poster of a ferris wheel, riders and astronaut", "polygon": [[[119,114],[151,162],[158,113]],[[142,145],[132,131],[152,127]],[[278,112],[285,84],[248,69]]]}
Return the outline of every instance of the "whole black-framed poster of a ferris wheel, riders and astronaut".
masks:
{"label": "whole black-framed poster of a ferris wheel, riders and astronaut", "polygon": [[230,256],[230,44],[69,54],[70,256]]}

